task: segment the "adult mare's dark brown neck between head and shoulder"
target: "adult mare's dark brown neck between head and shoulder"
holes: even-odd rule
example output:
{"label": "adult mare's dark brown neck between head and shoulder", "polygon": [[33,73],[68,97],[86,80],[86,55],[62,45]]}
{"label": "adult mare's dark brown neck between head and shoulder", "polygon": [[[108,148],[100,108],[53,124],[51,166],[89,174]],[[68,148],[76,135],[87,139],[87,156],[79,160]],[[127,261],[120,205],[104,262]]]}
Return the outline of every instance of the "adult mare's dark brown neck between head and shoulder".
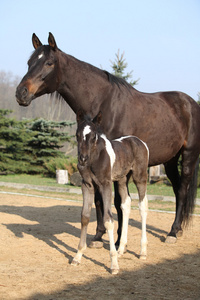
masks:
{"label": "adult mare's dark brown neck between head and shoulder", "polygon": [[82,109],[92,114],[100,105],[102,88],[109,87],[107,75],[100,69],[59,52],[59,86],[57,92],[76,113]]}

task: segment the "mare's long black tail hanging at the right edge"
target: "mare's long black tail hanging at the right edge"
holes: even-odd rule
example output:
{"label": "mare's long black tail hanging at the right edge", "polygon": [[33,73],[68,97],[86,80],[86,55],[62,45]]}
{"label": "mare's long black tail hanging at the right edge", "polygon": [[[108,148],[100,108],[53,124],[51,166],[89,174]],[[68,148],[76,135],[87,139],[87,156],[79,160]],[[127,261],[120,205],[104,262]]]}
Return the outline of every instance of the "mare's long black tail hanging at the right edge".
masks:
{"label": "mare's long black tail hanging at the right edge", "polygon": [[182,218],[183,218],[183,224],[187,225],[190,216],[194,211],[195,206],[195,200],[196,200],[196,194],[197,194],[197,179],[198,179],[198,170],[199,170],[199,158],[197,159],[196,166],[194,169],[194,173],[192,176],[192,180],[189,185],[188,193],[187,193],[187,199],[183,206],[182,211]]}

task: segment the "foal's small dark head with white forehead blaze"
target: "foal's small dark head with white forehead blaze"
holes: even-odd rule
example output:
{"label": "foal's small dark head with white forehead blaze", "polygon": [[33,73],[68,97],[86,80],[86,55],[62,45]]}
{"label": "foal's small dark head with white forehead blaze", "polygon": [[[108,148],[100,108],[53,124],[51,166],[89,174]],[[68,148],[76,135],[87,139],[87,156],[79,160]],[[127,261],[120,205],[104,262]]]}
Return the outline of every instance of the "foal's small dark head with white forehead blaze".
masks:
{"label": "foal's small dark head with white forehead blaze", "polygon": [[78,162],[81,166],[90,165],[92,162],[92,153],[97,147],[97,141],[100,133],[101,112],[92,120],[83,114],[77,113],[77,131],[76,138],[78,142]]}

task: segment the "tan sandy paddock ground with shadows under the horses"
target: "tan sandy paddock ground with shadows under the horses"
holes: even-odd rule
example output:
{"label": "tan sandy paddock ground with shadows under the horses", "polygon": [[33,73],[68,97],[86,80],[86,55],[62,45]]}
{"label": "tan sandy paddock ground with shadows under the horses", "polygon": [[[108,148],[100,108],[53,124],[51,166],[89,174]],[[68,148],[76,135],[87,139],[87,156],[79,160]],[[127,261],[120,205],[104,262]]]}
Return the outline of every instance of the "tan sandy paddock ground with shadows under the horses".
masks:
{"label": "tan sandy paddock ground with shadows under the horses", "polygon": [[[1,300],[200,299],[199,216],[176,244],[168,245],[164,239],[174,214],[149,212],[148,257],[141,261],[140,215],[132,210],[128,251],[114,276],[107,234],[104,248],[88,248],[81,265],[70,265],[80,237],[80,213],[77,202],[0,194]],[[95,229],[93,208],[88,241]]]}

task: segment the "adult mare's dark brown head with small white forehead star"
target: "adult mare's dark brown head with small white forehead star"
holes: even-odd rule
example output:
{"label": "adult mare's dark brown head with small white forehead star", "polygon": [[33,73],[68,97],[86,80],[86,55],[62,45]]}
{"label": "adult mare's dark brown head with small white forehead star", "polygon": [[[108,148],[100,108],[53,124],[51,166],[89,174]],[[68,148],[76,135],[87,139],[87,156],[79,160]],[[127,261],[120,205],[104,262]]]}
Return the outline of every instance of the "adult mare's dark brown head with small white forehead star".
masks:
{"label": "adult mare's dark brown head with small white forehead star", "polygon": [[17,102],[28,106],[41,95],[55,92],[58,86],[58,53],[55,39],[49,33],[48,45],[42,45],[38,37],[32,36],[34,53],[28,61],[28,72],[16,90]]}

